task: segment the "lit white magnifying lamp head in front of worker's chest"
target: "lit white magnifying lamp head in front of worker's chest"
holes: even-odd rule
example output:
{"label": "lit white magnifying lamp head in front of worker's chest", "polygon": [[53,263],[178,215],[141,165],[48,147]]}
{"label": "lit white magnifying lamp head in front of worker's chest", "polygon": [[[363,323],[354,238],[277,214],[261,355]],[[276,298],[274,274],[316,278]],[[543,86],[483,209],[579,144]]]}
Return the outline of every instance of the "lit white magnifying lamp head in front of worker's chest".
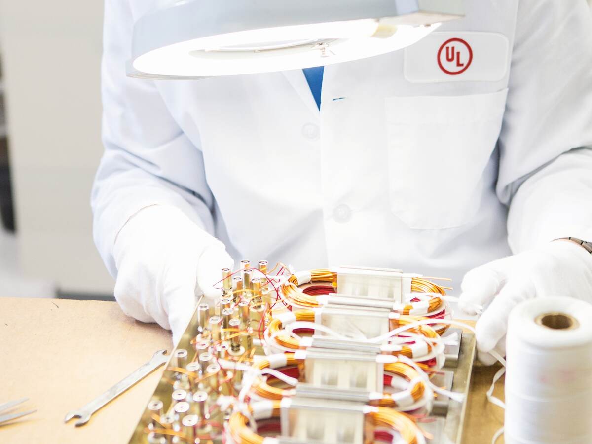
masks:
{"label": "lit white magnifying lamp head in front of worker's chest", "polygon": [[128,75],[191,79],[349,62],[415,43],[462,0],[185,0],[134,24]]}

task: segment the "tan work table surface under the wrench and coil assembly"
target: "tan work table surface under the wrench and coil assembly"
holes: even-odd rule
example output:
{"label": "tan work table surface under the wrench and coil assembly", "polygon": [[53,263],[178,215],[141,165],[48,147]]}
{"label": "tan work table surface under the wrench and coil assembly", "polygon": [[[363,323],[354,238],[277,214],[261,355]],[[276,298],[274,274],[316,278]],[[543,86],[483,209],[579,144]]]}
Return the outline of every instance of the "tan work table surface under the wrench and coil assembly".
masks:
{"label": "tan work table surface under the wrench and coil assembly", "polygon": [[[95,413],[85,426],[63,419],[149,361],[156,350],[172,349],[169,332],[127,317],[116,303],[98,301],[0,298],[0,340],[0,404],[28,397],[15,411],[37,408],[0,426],[0,442],[5,444],[127,443],[162,367]],[[474,367],[467,444],[491,442],[503,424],[503,411],[485,397],[496,370]],[[500,381],[496,395],[502,392]]]}

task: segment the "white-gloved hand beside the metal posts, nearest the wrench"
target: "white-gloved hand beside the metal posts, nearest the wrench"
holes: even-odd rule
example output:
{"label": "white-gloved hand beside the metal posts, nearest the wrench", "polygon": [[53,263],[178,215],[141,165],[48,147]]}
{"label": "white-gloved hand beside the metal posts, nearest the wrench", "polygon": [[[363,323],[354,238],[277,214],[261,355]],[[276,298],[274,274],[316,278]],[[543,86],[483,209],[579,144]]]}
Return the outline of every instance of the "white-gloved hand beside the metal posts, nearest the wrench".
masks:
{"label": "white-gloved hand beside the metal posts, nearest the wrench", "polygon": [[175,345],[194,313],[196,296],[203,293],[212,303],[220,294],[213,285],[221,269],[233,267],[223,243],[165,205],[133,215],[117,235],[113,256],[115,299],[124,313],[171,329]]}

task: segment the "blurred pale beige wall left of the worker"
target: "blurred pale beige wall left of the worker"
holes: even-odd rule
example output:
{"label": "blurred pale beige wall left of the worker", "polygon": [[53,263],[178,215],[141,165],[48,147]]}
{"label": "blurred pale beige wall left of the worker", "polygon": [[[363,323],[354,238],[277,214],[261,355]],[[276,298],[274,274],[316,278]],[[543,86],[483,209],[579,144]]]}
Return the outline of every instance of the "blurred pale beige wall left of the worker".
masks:
{"label": "blurred pale beige wall left of the worker", "polygon": [[89,207],[102,153],[102,8],[0,0],[18,260],[26,276],[67,292],[109,294],[113,285]]}

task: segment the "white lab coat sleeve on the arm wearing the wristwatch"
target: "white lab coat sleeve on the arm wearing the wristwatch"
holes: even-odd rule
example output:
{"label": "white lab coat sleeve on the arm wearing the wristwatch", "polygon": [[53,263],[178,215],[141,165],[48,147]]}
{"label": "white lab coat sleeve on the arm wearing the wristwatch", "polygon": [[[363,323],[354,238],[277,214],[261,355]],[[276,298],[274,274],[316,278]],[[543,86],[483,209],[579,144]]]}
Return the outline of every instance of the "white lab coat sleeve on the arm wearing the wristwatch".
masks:
{"label": "white lab coat sleeve on the arm wearing the wristwatch", "polygon": [[521,0],[499,139],[514,253],[592,240],[592,19],[585,0]]}

